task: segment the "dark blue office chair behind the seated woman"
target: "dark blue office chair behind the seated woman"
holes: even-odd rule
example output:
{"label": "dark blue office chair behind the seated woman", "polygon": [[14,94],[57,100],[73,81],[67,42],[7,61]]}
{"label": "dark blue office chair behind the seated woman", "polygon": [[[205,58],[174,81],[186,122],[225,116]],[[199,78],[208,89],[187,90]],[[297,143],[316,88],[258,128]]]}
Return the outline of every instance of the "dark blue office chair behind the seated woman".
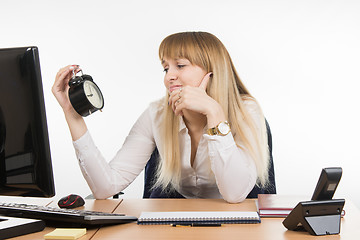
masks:
{"label": "dark blue office chair behind the seated woman", "polygon": [[[260,188],[255,185],[253,190],[248,194],[247,198],[257,198],[258,194],[275,194],[276,185],[275,185],[275,171],[274,171],[274,162],[272,156],[272,135],[269,123],[265,119],[266,131],[268,137],[268,147],[270,155],[270,165],[269,165],[269,184],[266,188]],[[148,163],[145,166],[145,176],[144,176],[144,193],[143,198],[184,198],[176,191],[162,191],[160,188],[151,189],[154,184],[154,176],[157,166],[157,161],[159,159],[159,152],[155,148],[152,153]]]}

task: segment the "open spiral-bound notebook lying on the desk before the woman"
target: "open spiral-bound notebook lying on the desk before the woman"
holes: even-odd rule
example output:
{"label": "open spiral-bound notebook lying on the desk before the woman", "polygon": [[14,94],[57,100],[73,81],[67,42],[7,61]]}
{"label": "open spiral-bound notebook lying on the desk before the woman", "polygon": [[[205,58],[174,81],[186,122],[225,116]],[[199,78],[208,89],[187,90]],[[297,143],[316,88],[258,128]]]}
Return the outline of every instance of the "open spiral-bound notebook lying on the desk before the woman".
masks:
{"label": "open spiral-bound notebook lying on the desk before the woman", "polygon": [[142,212],[138,224],[260,223],[257,212]]}

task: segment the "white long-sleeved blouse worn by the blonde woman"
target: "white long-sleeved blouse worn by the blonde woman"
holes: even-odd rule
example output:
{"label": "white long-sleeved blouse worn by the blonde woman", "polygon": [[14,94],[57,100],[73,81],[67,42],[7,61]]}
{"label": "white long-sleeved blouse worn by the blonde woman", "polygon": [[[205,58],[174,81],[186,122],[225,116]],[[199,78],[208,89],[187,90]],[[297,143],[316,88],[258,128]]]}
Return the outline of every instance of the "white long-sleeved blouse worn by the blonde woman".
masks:
{"label": "white long-sleeved blouse worn by the blonde woman", "polygon": [[[162,151],[160,125],[162,100],[153,102],[136,121],[121,149],[108,163],[95,146],[89,132],[73,142],[81,171],[97,199],[108,198],[124,190],[145,168],[154,148]],[[260,129],[262,115],[258,105],[245,106]],[[210,136],[204,128],[193,166],[190,163],[191,140],[180,118],[181,188],[186,198],[223,198],[230,203],[243,201],[253,189],[257,172],[248,152],[238,148],[233,135]]]}

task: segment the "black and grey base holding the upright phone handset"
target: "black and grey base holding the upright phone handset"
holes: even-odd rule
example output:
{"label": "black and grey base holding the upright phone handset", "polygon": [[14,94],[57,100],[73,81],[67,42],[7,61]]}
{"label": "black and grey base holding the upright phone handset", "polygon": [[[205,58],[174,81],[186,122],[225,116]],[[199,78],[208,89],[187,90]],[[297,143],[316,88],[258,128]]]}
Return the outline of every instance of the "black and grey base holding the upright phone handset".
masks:
{"label": "black and grey base holding the upright phone handset", "polygon": [[344,199],[299,202],[283,221],[289,230],[305,229],[311,235],[340,233]]}

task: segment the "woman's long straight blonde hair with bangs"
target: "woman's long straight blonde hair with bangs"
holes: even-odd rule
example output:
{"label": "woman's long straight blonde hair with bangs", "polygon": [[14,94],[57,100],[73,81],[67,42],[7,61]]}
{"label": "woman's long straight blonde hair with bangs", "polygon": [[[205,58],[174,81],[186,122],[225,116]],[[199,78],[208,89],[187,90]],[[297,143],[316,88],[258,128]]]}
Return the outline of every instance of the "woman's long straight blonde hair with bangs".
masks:
{"label": "woman's long straight blonde hair with bangs", "polygon": [[[230,55],[221,41],[206,32],[183,32],[166,37],[159,47],[159,58],[186,58],[191,64],[212,72],[207,85],[207,94],[222,107],[231,125],[237,146],[248,151],[254,159],[259,186],[268,183],[269,153],[267,146],[265,119],[261,129],[256,130],[254,120],[244,106],[244,100],[256,100],[241,82]],[[179,117],[168,106],[169,96],[164,98],[161,160],[157,169],[154,187],[179,189],[181,180],[181,160],[179,147]],[[257,103],[256,103],[257,104]],[[259,111],[260,107],[259,107]],[[262,114],[262,113],[261,113]],[[258,134],[260,132],[260,134]]]}

